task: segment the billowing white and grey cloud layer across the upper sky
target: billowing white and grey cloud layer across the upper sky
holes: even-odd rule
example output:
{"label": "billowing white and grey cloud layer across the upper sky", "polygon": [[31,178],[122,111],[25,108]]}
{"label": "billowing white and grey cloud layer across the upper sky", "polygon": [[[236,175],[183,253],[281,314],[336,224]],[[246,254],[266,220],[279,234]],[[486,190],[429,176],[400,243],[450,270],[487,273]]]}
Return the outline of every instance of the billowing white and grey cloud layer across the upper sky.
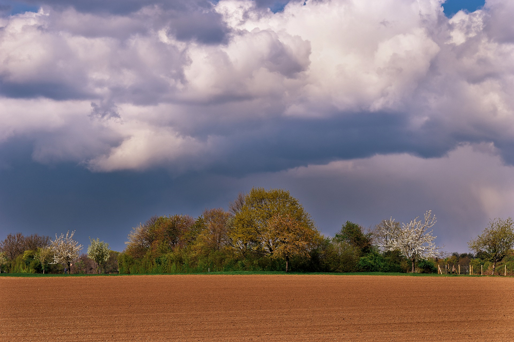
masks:
{"label": "billowing white and grey cloud layer across the upper sky", "polygon": [[465,142],[514,162],[500,0],[31,3],[0,19],[0,134],[44,163],[246,174]]}

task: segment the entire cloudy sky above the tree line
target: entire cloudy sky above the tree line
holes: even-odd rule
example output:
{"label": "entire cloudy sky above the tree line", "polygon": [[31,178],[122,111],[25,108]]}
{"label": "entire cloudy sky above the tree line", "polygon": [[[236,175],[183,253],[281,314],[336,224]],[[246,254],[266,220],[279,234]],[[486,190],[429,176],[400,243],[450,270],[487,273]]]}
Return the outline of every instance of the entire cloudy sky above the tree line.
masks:
{"label": "entire cloudy sky above the tree line", "polygon": [[153,215],[284,188],[326,236],[514,203],[514,3],[0,0],[0,239],[122,251]]}

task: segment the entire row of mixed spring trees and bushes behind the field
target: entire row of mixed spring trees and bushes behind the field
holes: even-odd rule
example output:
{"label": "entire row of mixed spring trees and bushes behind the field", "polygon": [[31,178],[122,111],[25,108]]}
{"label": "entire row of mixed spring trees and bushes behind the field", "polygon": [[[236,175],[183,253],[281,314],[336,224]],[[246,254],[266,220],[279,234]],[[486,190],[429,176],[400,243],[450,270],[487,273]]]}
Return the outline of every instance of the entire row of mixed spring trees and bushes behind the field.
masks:
{"label": "entire row of mixed spring trees and bushes behind the field", "polygon": [[[512,219],[490,222],[469,242],[472,254],[445,255],[434,243],[427,211],[408,223],[393,218],[370,229],[345,222],[334,237],[320,233],[298,199],[284,189],[254,187],[223,208],[154,216],[134,227],[123,252],[90,239],[87,254],[74,232],[56,239],[9,234],[0,242],[0,269],[32,273],[196,273],[209,271],[437,272],[442,264],[480,264],[492,273],[513,262]],[[456,256],[455,256],[456,255]],[[466,259],[468,258],[468,259]]]}

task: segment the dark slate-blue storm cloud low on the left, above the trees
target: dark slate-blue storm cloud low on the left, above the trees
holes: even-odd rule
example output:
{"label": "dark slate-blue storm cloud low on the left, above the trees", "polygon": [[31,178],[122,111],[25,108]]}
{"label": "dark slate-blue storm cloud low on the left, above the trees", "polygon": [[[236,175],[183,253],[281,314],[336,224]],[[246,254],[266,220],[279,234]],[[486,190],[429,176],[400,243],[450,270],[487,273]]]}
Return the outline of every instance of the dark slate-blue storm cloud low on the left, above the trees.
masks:
{"label": "dark slate-blue storm cloud low on the left, above the trees", "polygon": [[153,215],[199,216],[245,190],[208,174],[171,178],[164,169],[90,173],[76,163],[49,167],[30,160],[33,148],[26,139],[0,147],[0,240],[14,232],[54,237],[76,230],[86,248],[89,237],[99,237],[122,251],[132,227]]}

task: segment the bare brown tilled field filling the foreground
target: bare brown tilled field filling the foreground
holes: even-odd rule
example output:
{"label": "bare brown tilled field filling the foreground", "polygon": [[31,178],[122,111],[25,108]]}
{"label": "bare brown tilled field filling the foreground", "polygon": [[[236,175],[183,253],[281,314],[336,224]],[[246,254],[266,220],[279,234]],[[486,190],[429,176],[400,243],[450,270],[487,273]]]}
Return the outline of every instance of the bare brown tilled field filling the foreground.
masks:
{"label": "bare brown tilled field filling the foreground", "polygon": [[514,341],[514,278],[0,278],[0,341]]}

